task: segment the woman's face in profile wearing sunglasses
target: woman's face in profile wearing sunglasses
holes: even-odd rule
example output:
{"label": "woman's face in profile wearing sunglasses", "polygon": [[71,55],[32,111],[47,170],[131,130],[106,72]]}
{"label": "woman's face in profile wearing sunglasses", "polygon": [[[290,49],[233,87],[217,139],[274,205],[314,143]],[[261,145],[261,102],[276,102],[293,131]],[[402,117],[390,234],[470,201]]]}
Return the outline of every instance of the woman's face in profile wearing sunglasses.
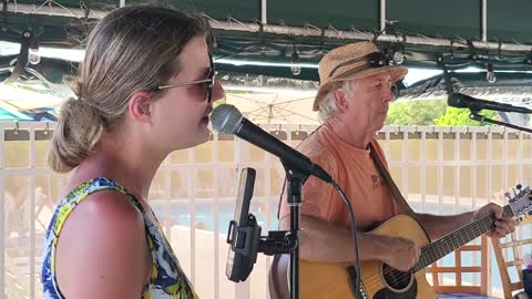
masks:
{"label": "woman's face in profile wearing sunglasses", "polygon": [[[178,73],[166,84],[182,84],[208,79],[211,60],[205,38],[195,37],[185,45],[174,61]],[[170,87],[162,97],[153,102],[153,122],[158,144],[168,146],[168,151],[192,147],[208,140],[208,115],[213,103],[224,96],[219,82],[214,81],[212,101],[208,102],[207,84],[191,84]]]}

